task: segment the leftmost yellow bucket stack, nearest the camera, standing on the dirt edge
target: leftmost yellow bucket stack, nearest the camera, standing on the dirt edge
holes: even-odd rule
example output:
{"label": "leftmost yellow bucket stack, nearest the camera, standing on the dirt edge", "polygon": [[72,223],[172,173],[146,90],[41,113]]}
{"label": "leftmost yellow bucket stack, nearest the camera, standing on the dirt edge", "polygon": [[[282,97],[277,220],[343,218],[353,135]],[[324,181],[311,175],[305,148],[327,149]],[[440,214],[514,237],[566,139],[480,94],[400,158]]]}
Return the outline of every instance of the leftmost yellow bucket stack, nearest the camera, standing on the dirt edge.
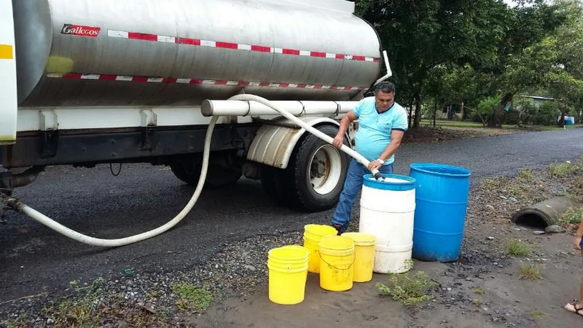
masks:
{"label": "leftmost yellow bucket stack, nearest the camera, standing on the dirt edge", "polygon": [[308,252],[290,246],[268,252],[269,301],[273,303],[291,305],[304,301]]}

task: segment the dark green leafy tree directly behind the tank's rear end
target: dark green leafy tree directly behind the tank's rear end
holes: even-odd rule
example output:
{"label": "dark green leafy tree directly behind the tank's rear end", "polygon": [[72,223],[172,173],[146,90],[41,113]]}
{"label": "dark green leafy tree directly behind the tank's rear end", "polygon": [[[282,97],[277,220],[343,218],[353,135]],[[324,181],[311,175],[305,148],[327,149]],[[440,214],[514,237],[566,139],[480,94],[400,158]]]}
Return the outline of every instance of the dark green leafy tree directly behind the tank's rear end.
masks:
{"label": "dark green leafy tree directly behind the tank's rear end", "polygon": [[394,80],[419,127],[428,78],[445,64],[494,62],[508,7],[502,0],[363,0],[357,13],[387,48]]}

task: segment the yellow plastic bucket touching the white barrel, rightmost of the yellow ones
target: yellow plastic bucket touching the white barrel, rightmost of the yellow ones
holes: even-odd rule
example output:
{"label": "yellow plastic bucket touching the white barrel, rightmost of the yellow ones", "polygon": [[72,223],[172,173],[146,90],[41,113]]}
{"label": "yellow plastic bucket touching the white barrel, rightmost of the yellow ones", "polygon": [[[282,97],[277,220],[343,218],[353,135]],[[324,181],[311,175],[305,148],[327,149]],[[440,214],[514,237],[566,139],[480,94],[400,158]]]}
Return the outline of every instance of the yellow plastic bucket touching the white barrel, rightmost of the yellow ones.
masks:
{"label": "yellow plastic bucket touching the white barrel, rightmost of the yellow ones", "polygon": [[374,267],[374,246],[377,238],[370,233],[363,232],[345,232],[343,237],[350,238],[354,241],[354,259],[353,281],[367,282],[373,279]]}

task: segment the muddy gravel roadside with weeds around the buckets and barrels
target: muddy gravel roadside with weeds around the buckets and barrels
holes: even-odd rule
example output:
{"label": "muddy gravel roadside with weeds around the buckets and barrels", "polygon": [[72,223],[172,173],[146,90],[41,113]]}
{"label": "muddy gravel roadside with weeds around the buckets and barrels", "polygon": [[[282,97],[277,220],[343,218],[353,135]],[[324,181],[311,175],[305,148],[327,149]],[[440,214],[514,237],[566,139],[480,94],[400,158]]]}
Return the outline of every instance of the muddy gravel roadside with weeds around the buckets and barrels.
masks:
{"label": "muddy gravel roadside with weeds around the buckets and barrels", "polygon": [[[301,326],[301,315],[313,326],[363,326],[363,318],[364,326],[577,326],[581,318],[562,308],[576,297],[581,272],[581,259],[570,247],[574,217],[564,218],[567,232],[557,235],[535,235],[509,220],[519,208],[560,194],[583,201],[583,158],[482,180],[470,192],[461,258],[448,264],[415,261],[410,276],[423,271],[436,285],[423,291],[429,301],[414,306],[383,295],[375,285],[388,284],[382,275],[354,293],[340,294],[322,292],[312,278],[311,299],[291,308],[273,306],[266,300],[266,253],[301,243],[301,232],[296,232],[223,245],[212,260],[182,272],[128,272],[73,281],[65,290],[39,291],[43,293],[0,304],[0,320],[6,327],[226,327],[239,326],[241,320],[275,326],[287,317]],[[357,224],[358,215],[353,231]]]}

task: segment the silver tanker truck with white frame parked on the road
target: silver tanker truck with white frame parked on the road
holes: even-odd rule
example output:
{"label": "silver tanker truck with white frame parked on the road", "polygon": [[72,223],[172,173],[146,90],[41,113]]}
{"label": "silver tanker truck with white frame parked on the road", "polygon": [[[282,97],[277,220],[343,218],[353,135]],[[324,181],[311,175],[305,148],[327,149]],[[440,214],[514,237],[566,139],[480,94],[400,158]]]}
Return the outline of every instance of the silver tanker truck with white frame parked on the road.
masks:
{"label": "silver tanker truck with white frame parked on the road", "polygon": [[[386,67],[387,74],[382,75]],[[48,166],[152,163],[196,186],[261,180],[279,204],[332,208],[339,118],[390,75],[345,0],[0,0],[0,188]],[[357,125],[347,132],[353,146]]]}

